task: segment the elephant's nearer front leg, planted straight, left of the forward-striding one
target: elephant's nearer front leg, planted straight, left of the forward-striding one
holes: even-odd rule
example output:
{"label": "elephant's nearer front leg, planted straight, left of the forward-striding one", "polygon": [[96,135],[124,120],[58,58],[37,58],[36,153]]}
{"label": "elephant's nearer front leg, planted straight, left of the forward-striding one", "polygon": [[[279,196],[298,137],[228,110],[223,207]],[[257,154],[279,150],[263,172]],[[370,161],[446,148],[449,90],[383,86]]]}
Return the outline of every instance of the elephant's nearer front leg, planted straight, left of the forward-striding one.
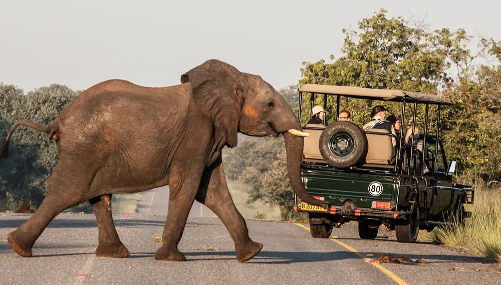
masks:
{"label": "elephant's nearer front leg, planted straight, left of the forward-striding one", "polygon": [[[196,162],[190,164],[203,165]],[[184,169],[185,167],[173,167],[170,173],[167,221],[162,234],[163,244],[155,252],[156,260],[186,260],[186,257],[177,248],[177,244],[181,240],[186,219],[195,200],[203,166],[189,170]]]}

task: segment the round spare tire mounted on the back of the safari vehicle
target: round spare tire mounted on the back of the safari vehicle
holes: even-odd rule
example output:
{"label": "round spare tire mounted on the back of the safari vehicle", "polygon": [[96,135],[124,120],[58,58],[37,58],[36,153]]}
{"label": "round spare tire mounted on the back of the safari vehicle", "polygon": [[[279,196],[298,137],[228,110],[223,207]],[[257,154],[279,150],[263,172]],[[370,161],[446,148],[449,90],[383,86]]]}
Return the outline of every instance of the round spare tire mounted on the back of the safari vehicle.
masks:
{"label": "round spare tire mounted on the back of the safari vehicle", "polygon": [[349,121],[336,121],[320,135],[319,149],[325,161],[337,168],[348,168],[365,161],[369,143],[364,131]]}

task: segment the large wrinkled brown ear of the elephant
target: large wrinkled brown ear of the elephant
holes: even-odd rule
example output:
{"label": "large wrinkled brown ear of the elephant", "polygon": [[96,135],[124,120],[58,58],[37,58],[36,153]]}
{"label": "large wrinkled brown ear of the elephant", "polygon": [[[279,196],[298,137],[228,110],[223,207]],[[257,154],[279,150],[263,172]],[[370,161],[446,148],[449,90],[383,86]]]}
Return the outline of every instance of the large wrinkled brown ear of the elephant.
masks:
{"label": "large wrinkled brown ear of the elephant", "polygon": [[216,59],[207,60],[181,75],[181,83],[190,82],[196,104],[212,119],[216,142],[227,143],[229,147],[237,144],[243,104],[240,76],[238,69]]}

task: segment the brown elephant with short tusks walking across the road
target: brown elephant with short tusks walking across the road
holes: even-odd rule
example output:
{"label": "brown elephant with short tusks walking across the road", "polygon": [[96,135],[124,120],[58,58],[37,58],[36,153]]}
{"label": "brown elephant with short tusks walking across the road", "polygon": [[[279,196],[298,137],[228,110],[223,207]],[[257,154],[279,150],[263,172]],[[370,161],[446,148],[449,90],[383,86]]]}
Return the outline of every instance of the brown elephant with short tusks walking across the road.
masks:
{"label": "brown elephant with short tusks walking across the road", "polygon": [[224,177],[221,149],[237,145],[237,133],[283,134],[288,177],[300,199],[326,207],[306,192],[300,176],[304,136],[284,97],[260,75],[206,60],[181,75],[181,83],[147,87],[123,79],[99,82],[73,99],[49,124],[18,120],[48,134],[58,161],[37,211],[10,232],[19,255],[32,256],[43,230],[63,210],[88,200],[98,225],[95,254],[127,257],[111,215],[111,196],[169,185],[167,218],[156,260],[184,261],[178,249],[194,200],[223,222],[234,241],[236,258],[247,261],[263,244],[249,237]]}

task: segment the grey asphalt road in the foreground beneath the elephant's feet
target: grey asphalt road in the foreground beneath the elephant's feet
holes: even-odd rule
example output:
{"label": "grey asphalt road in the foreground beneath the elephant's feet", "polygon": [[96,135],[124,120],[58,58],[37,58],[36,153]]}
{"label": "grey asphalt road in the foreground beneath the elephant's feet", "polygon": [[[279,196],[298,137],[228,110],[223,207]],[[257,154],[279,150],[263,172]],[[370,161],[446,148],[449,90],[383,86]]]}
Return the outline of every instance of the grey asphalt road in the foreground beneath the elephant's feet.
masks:
{"label": "grey asphalt road in the foreground beneath the elephant's feet", "polygon": [[[255,258],[239,263],[228,232],[213,217],[189,217],[179,246],[187,262],[156,261],[153,255],[160,243],[152,239],[161,235],[165,215],[140,213],[114,215],[132,253],[128,258],[96,257],[94,215],[76,213],[58,215],[35,243],[34,256],[24,258],[11,250],[6,238],[28,216],[0,213],[2,284],[492,284],[501,278],[497,265],[443,246],[398,243],[391,234],[360,240],[356,225],[334,229],[339,238],[317,239],[298,224],[247,220],[250,235],[264,247]],[[218,251],[200,250],[202,246]],[[377,267],[350,250],[373,254],[369,258],[385,253],[425,258],[427,263]],[[452,267],[455,270],[449,270]]]}

